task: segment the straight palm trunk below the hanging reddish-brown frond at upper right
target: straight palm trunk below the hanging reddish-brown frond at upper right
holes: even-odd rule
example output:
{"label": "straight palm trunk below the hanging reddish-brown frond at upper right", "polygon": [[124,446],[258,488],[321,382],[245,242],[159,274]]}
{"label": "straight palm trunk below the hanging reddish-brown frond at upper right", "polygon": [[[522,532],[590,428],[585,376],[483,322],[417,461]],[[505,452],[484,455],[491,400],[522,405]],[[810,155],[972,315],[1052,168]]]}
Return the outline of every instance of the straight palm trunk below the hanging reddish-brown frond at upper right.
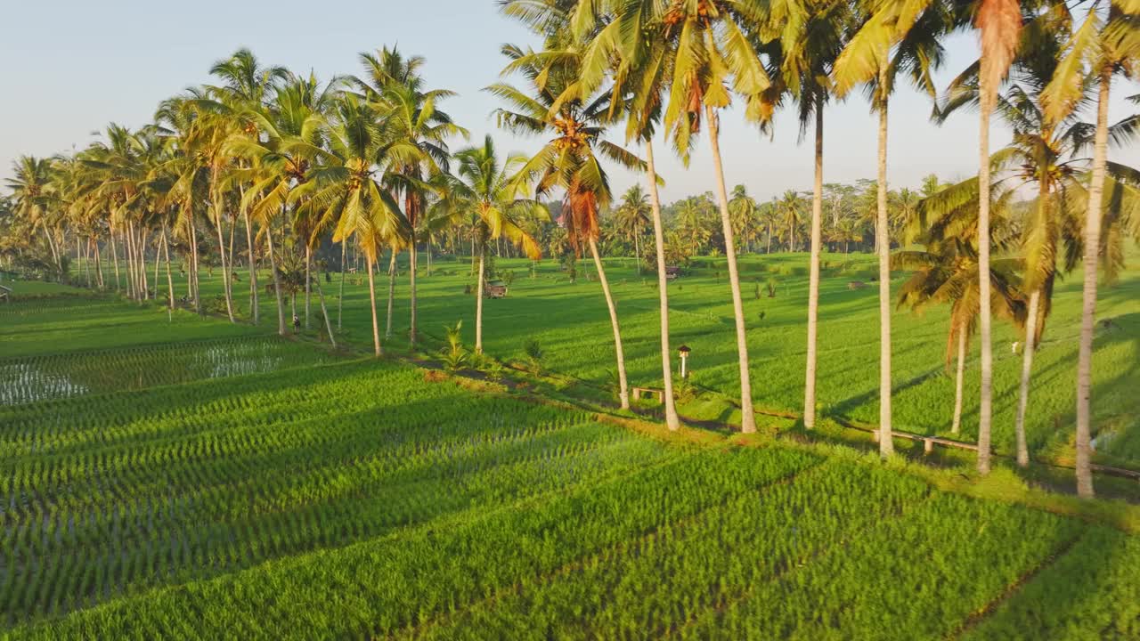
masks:
{"label": "straight palm trunk below the hanging reddish-brown frond at upper right", "polygon": [[978,473],[990,473],[993,416],[993,346],[990,333],[990,114],[994,91],[982,88],[978,131],[978,306],[982,338],[982,388],[978,403]]}

